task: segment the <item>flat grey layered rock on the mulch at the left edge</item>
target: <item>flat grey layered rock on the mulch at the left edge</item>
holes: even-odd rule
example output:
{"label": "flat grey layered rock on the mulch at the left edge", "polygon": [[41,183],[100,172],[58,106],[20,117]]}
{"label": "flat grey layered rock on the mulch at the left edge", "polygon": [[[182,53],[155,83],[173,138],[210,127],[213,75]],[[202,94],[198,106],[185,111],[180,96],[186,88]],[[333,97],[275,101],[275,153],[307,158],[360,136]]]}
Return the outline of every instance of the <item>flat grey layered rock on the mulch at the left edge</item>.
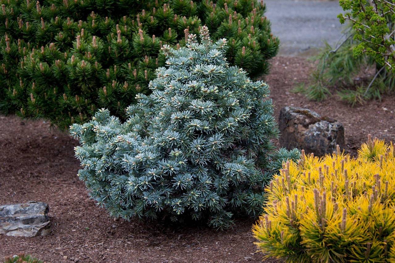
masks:
{"label": "flat grey layered rock on the mulch at the left edge", "polygon": [[31,201],[0,206],[0,234],[15,237],[45,236],[51,233],[48,205]]}

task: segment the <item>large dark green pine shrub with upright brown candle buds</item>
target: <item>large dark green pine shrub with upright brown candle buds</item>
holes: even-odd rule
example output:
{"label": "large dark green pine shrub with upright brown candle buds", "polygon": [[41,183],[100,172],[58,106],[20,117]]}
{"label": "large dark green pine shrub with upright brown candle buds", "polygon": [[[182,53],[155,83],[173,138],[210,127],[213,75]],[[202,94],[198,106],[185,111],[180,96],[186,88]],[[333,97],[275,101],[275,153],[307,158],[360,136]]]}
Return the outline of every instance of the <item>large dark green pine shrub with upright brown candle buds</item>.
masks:
{"label": "large dark green pine shrub with upright brown candle buds", "polygon": [[279,41],[256,0],[0,0],[0,111],[44,118],[60,129],[102,107],[125,117],[150,92],[160,48],[184,46],[207,25],[229,39],[228,61],[266,74]]}

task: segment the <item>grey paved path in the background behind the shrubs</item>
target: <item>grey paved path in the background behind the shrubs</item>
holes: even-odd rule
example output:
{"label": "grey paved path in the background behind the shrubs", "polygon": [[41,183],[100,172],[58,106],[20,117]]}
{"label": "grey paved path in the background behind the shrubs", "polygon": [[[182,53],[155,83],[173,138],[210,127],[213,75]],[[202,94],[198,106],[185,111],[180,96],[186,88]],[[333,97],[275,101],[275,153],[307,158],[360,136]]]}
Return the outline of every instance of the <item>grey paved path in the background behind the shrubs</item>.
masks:
{"label": "grey paved path in the background behind the shrubs", "polygon": [[265,0],[265,3],[272,32],[280,38],[281,55],[311,54],[324,47],[325,40],[334,45],[342,35],[337,18],[342,8],[338,1]]}

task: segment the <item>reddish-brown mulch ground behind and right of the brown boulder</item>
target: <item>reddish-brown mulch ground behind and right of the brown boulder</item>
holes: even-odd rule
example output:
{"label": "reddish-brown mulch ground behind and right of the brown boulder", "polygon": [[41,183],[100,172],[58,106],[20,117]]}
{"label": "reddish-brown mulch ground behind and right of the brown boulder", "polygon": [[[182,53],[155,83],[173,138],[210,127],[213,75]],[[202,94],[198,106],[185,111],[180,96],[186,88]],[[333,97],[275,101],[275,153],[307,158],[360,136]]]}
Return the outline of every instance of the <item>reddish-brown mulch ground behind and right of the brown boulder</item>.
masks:
{"label": "reddish-brown mulch ground behind and right of the brown boulder", "polygon": [[[367,135],[395,142],[395,94],[383,96],[381,101],[367,101],[364,105],[351,107],[336,95],[325,101],[310,101],[303,94],[293,93],[298,83],[308,83],[314,63],[299,57],[277,57],[272,63],[267,83],[275,104],[276,118],[284,106],[308,108],[322,116],[339,120],[344,126],[346,152],[352,155]],[[336,94],[335,91],[332,92]]]}

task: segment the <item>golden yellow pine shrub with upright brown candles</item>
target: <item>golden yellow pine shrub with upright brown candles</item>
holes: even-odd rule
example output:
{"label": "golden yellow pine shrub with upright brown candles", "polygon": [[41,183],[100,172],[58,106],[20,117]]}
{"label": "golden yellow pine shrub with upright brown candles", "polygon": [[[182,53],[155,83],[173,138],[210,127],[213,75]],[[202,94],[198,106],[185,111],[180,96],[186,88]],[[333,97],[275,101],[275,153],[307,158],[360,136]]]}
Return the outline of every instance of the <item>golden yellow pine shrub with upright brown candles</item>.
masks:
{"label": "golden yellow pine shrub with upright brown candles", "polygon": [[395,262],[394,155],[369,135],[357,158],[338,147],[284,164],[252,229],[258,249],[286,262]]}

